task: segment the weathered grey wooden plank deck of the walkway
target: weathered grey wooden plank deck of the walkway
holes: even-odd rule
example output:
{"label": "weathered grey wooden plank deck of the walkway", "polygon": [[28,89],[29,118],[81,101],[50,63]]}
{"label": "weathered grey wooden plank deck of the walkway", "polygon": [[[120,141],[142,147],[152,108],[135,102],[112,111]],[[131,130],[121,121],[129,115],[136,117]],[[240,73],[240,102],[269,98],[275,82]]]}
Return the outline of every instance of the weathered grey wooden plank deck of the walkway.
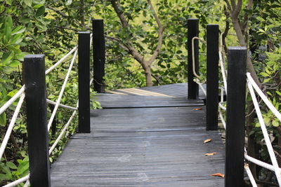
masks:
{"label": "weathered grey wooden plank deck of the walkway", "polygon": [[186,99],[179,84],[136,91],[98,96],[104,109],[91,111],[91,134],[75,134],[51,165],[52,186],[223,186],[209,176],[224,173],[224,146],[205,130],[202,100]]}

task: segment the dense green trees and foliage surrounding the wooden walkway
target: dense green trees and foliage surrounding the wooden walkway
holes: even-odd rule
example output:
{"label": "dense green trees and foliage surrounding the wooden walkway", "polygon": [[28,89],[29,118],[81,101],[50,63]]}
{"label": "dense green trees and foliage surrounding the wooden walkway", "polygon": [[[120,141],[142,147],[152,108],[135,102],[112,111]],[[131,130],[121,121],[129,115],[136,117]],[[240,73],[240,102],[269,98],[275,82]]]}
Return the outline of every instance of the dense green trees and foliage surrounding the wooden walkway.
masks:
{"label": "dense green trees and foliage surrounding the wooden walkway", "polygon": [[[50,67],[77,45],[77,32],[91,30],[93,19],[105,22],[107,89],[186,82],[188,18],[200,19],[200,37],[203,39],[206,25],[217,23],[223,33],[225,48],[247,46],[248,71],[281,111],[280,0],[0,0],[0,106],[21,88],[21,62],[25,55],[43,53],[46,55],[46,67]],[[205,50],[205,44],[201,43],[202,80],[206,71]],[[57,99],[68,64],[66,61],[46,76],[48,99]],[[77,72],[74,70],[67,83],[63,104],[75,105],[77,88]],[[0,116],[0,139],[4,137],[15,105],[16,102]],[[98,103],[93,102],[92,107],[98,107]],[[281,123],[262,103],[261,109],[281,163]],[[253,105],[248,98],[248,153],[270,162],[252,110]],[[50,111],[51,107],[48,115]],[[63,116],[70,116],[69,111],[58,111],[58,130],[50,134],[50,144],[66,123],[67,119]],[[74,133],[74,129],[75,125],[72,125],[67,136]],[[0,162],[0,185],[28,173],[26,140],[23,107]],[[66,142],[67,138],[60,141],[51,161]],[[255,165],[251,165],[251,170],[259,183],[276,183],[273,173]]]}

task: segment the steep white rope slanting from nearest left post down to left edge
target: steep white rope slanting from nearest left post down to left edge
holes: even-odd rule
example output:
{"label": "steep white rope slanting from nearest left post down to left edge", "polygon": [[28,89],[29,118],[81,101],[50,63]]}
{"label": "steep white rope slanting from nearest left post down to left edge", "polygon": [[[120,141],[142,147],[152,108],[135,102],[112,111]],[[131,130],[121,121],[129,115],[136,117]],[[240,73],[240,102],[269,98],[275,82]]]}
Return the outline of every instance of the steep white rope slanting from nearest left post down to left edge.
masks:
{"label": "steep white rope slanting from nearest left post down to left edge", "polygon": [[25,99],[25,94],[22,93],[22,95],[20,96],[20,100],[18,102],[18,105],[17,107],[15,108],[15,112],[13,113],[13,117],[11,119],[11,122],[10,124],[8,125],[8,129],[6,131],[6,134],[5,134],[5,137],[1,143],[1,147],[0,147],[0,160],[4,154],[4,151],[5,151],[5,148],[7,146],[7,143],[8,143],[8,139],[10,138],[11,136],[11,133],[13,131],[13,126],[15,125],[15,120],[18,118],[18,113],[20,113],[20,108],[22,106],[22,102],[24,101]]}

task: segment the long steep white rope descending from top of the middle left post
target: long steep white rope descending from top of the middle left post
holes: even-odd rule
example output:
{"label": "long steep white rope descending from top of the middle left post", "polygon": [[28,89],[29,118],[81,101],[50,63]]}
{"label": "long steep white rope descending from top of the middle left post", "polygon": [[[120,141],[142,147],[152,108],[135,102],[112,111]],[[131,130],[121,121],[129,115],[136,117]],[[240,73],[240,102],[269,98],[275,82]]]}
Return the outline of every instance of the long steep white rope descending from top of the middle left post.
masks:
{"label": "long steep white rope descending from top of the middle left post", "polygon": [[56,113],[56,111],[58,110],[58,105],[60,104],[60,100],[61,100],[62,97],[63,97],[63,92],[65,91],[65,87],[66,87],[66,84],[67,84],[67,80],[68,80],[68,78],[69,78],[69,76],[70,76],[70,72],[71,72],[71,70],[72,70],[72,67],[73,67],[75,58],[76,58],[76,56],[77,56],[77,52],[78,52],[78,50],[75,50],[75,53],[74,53],[74,55],[73,55],[73,57],[72,57],[72,60],[71,60],[71,62],[70,62],[70,67],[68,68],[67,74],[66,74],[66,76],[65,76],[65,81],[63,81],[63,86],[62,86],[62,88],[61,88],[61,90],[60,90],[60,95],[58,96],[58,100],[56,101],[55,108],[53,109],[53,112],[52,112],[52,114],[51,114],[51,118],[50,118],[50,120],[48,121],[48,130],[50,130],[50,127],[51,127],[51,125],[52,125],[52,123],[53,123],[53,119],[55,118],[55,113]]}

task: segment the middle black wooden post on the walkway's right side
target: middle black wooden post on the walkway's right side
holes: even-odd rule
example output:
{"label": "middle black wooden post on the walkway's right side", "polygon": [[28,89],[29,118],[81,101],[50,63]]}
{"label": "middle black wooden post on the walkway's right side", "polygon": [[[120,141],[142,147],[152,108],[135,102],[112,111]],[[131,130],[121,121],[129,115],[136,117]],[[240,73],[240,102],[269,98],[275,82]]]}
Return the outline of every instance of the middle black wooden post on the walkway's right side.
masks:
{"label": "middle black wooden post on the walkway's right side", "polygon": [[207,130],[218,129],[218,25],[207,25]]}

